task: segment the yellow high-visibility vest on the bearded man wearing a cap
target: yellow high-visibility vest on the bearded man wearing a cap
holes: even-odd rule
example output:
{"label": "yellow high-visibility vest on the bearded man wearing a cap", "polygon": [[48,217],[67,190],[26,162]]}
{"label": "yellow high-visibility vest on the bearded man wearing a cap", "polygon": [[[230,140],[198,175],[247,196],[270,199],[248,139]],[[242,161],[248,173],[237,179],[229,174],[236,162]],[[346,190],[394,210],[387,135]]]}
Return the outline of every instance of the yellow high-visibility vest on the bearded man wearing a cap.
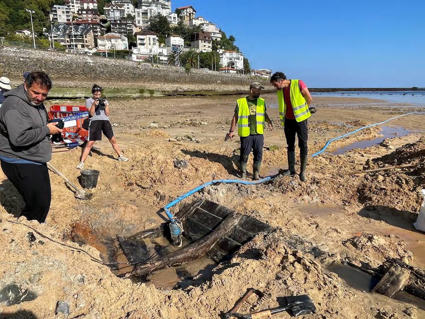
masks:
{"label": "yellow high-visibility vest on the bearded man wearing a cap", "polygon": [[[249,136],[249,107],[248,102],[246,101],[246,97],[243,97],[238,100],[238,135],[240,137]],[[257,109],[256,109],[256,131],[257,134],[263,134],[264,120],[265,120],[265,103],[264,100],[259,97],[257,99]]]}

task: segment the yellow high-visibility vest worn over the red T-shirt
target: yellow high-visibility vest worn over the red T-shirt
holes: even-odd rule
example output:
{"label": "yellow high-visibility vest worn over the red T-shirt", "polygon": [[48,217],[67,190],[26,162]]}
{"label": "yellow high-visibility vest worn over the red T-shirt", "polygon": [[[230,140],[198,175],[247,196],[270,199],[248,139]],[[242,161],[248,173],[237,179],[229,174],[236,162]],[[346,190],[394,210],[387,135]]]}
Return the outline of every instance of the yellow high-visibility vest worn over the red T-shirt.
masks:
{"label": "yellow high-visibility vest worn over the red T-shirt", "polygon": [[[291,87],[289,88],[289,96],[291,99],[292,110],[294,111],[295,120],[302,122],[308,119],[311,114],[309,105],[306,103],[303,94],[301,94],[298,80],[291,80]],[[285,125],[286,103],[283,99],[283,90],[278,90],[278,103],[279,103],[279,117],[280,125]],[[295,106],[296,105],[296,106]]]}

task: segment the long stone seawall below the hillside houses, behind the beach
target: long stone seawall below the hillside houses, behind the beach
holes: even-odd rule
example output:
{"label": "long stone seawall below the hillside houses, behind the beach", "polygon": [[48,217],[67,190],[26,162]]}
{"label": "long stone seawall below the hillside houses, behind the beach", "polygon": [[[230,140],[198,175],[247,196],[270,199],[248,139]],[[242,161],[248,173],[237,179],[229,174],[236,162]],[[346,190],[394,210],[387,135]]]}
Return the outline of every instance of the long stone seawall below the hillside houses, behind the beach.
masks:
{"label": "long stone seawall below the hillside houses, behind the beach", "polygon": [[0,46],[0,73],[12,84],[21,82],[23,71],[43,70],[54,86],[88,88],[98,83],[108,88],[145,88],[159,91],[246,91],[258,77],[215,71],[134,62],[59,51]]}

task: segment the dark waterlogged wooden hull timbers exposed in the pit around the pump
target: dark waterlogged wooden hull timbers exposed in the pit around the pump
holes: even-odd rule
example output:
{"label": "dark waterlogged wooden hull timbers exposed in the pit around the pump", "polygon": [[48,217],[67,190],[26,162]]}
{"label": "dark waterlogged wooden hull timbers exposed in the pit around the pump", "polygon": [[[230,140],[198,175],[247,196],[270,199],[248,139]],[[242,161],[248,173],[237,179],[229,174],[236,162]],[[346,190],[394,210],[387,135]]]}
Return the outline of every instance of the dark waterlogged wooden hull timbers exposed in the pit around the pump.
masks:
{"label": "dark waterlogged wooden hull timbers exposed in the pit around the pump", "polygon": [[117,236],[127,260],[137,263],[131,276],[143,276],[173,265],[207,255],[216,262],[229,260],[246,242],[260,232],[272,228],[251,216],[232,211],[207,199],[197,199],[177,214],[183,225],[187,245],[177,251],[156,246],[154,256],[148,256],[146,239],[167,236],[168,225],[137,233],[129,238]]}

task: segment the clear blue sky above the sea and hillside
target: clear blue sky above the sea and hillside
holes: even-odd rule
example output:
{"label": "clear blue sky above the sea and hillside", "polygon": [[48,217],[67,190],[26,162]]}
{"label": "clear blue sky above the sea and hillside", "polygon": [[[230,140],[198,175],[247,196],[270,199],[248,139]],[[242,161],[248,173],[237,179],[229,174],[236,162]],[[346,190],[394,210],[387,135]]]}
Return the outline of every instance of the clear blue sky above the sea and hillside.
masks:
{"label": "clear blue sky above the sea and hillside", "polygon": [[425,87],[425,0],[172,0],[236,38],[252,68],[309,87]]}

